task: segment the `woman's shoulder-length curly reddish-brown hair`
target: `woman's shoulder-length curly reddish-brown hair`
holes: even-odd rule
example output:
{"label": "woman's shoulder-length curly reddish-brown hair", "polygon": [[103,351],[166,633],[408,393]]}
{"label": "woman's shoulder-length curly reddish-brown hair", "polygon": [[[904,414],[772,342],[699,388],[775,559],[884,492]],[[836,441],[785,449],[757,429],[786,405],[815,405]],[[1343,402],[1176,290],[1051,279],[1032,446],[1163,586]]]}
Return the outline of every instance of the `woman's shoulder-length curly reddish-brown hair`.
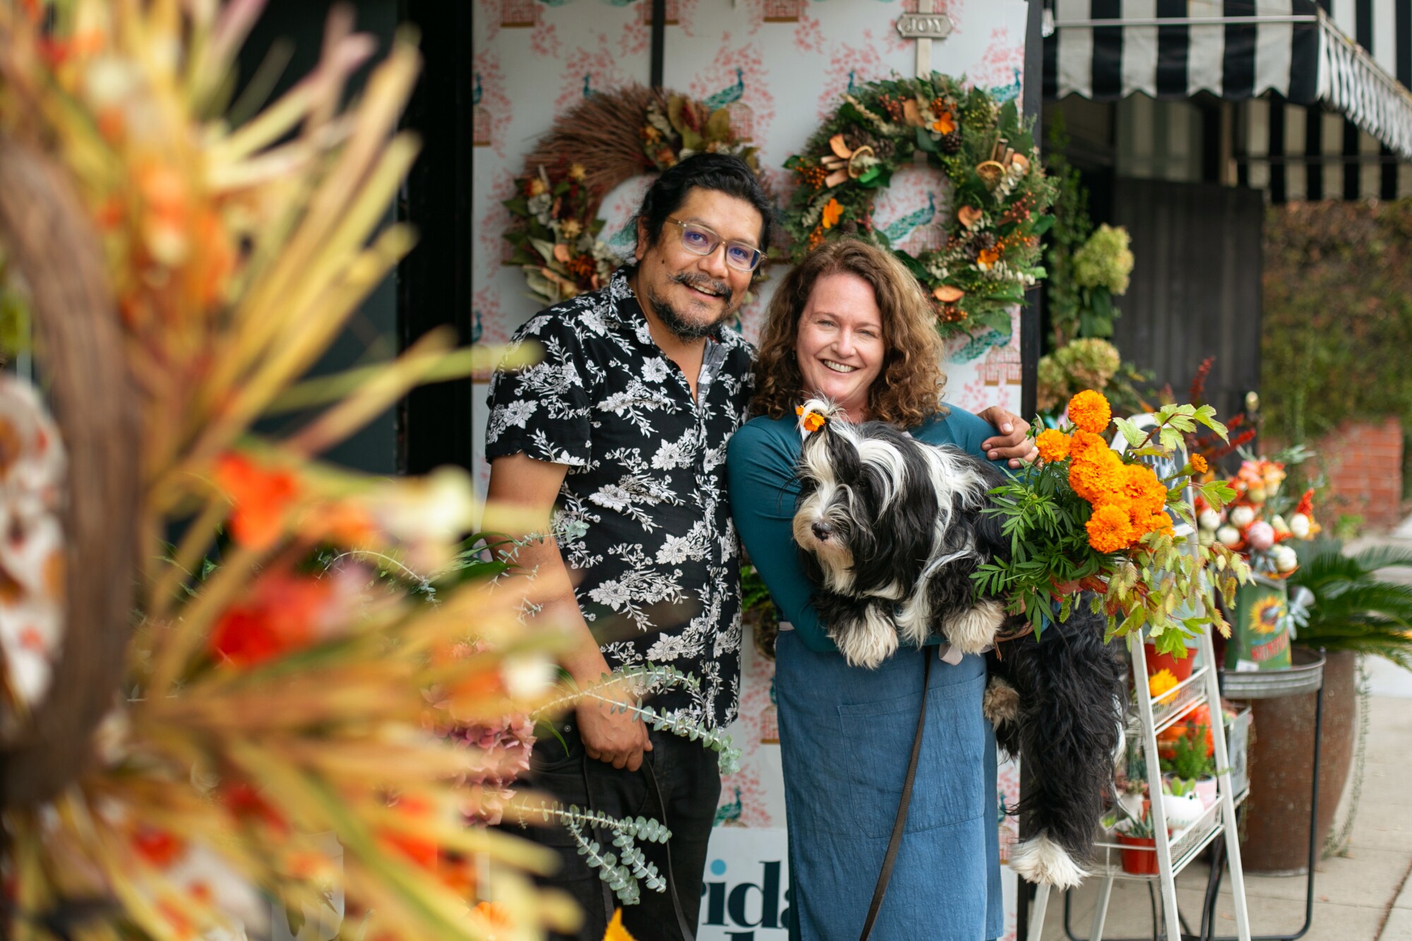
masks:
{"label": "woman's shoulder-length curly reddish-brown hair", "polygon": [[882,370],[868,389],[868,420],[911,428],[946,414],[942,389],[945,348],[936,333],[935,312],[922,285],[891,251],[860,239],[826,242],[810,251],[770,301],[755,357],[755,396],[751,414],[782,418],[810,393],[795,357],[799,318],[819,278],[854,274],[873,287],[882,314],[887,353]]}

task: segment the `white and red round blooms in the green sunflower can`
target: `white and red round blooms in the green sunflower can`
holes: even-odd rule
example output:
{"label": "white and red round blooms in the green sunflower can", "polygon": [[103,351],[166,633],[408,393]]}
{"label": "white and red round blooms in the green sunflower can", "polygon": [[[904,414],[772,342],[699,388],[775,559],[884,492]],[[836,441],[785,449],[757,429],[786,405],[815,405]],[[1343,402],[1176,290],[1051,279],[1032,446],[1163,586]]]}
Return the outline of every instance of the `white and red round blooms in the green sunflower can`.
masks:
{"label": "white and red round blooms in the green sunflower can", "polygon": [[[1293,456],[1302,459],[1303,455]],[[1295,502],[1281,493],[1284,483],[1284,461],[1241,461],[1240,470],[1227,482],[1236,496],[1226,507],[1197,502],[1202,543],[1240,552],[1261,575],[1292,575],[1299,568],[1299,557],[1286,543],[1312,540],[1322,527],[1315,520],[1313,489],[1305,490]]]}

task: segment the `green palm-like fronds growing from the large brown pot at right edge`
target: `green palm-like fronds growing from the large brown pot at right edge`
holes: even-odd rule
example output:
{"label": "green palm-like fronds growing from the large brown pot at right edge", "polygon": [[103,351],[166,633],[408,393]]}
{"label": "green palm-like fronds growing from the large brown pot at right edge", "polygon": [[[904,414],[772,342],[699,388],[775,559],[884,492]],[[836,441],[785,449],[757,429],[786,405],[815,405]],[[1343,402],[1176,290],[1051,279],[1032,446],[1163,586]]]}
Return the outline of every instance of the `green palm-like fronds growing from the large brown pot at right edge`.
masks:
{"label": "green palm-like fronds growing from the large brown pot at right edge", "polygon": [[1412,670],[1412,585],[1378,578],[1392,567],[1412,567],[1412,552],[1370,548],[1343,555],[1326,550],[1305,560],[1291,584],[1313,592],[1315,602],[1296,643],[1377,654]]}

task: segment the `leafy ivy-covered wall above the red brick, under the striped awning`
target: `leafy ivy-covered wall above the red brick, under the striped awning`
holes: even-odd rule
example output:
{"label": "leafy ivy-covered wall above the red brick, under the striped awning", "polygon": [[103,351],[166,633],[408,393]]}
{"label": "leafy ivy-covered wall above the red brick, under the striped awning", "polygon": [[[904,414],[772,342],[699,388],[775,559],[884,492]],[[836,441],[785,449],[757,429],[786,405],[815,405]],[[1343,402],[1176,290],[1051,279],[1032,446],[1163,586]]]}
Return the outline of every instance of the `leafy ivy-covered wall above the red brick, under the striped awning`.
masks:
{"label": "leafy ivy-covered wall above the red brick, under the striped awning", "polygon": [[1265,215],[1265,431],[1313,441],[1347,418],[1412,422],[1412,201]]}

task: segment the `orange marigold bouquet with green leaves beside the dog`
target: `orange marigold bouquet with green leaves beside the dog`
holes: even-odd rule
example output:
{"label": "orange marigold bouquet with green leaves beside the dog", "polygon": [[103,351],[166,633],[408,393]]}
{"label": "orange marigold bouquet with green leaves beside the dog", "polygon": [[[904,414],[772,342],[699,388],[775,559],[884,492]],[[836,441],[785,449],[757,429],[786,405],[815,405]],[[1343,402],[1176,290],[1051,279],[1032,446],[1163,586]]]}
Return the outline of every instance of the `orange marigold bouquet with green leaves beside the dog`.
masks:
{"label": "orange marigold bouquet with green leaves beside the dog", "polygon": [[[977,589],[1008,596],[1008,609],[1035,632],[1046,617],[1067,619],[1079,591],[1096,593],[1094,610],[1107,612],[1110,637],[1145,630],[1163,653],[1183,651],[1183,637],[1207,623],[1228,632],[1213,592],[1231,596],[1248,576],[1245,564],[1220,544],[1190,547],[1192,537],[1173,528],[1173,520],[1183,520],[1195,530],[1185,493],[1206,470],[1199,456],[1178,462],[1182,434],[1197,424],[1224,434],[1214,410],[1166,406],[1151,430],[1118,418],[1128,442],[1121,455],[1103,437],[1113,415],[1101,393],[1080,391],[1067,414],[1067,430],[1038,432],[1039,461],[991,490],[987,513],[1001,519],[1011,557],[981,567]],[[1158,476],[1149,461],[1171,472]],[[1220,480],[1193,486],[1209,504],[1234,496]],[[1186,599],[1200,599],[1202,613],[1173,613]]]}

